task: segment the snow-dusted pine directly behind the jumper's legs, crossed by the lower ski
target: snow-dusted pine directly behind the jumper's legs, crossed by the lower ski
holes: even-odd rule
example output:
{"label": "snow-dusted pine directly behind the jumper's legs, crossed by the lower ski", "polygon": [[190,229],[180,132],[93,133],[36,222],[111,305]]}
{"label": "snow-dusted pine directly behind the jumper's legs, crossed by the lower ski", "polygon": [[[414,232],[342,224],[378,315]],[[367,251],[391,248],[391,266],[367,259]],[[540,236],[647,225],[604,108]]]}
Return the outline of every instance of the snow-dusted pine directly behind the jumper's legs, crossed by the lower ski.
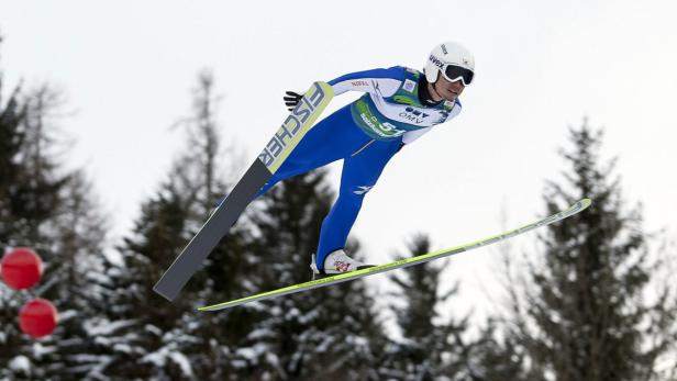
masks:
{"label": "snow-dusted pine directly behind the jumper's legs, crossed by the lower ski", "polygon": [[[310,280],[322,220],[333,194],[322,170],[271,189],[260,201],[253,243],[256,291]],[[353,242],[351,253],[357,253]],[[238,307],[257,314],[240,346],[240,379],[376,380],[385,334],[362,281],[311,290]]]}

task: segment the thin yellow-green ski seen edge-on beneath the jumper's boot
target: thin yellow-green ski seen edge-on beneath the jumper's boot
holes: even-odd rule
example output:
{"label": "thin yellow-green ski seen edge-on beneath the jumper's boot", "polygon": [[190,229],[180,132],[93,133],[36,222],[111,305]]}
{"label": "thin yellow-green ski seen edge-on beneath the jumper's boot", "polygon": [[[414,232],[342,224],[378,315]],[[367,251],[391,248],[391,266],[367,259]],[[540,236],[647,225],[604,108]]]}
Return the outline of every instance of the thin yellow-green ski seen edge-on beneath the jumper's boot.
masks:
{"label": "thin yellow-green ski seen edge-on beneath the jumper's boot", "polygon": [[547,216],[545,218],[541,218],[539,221],[535,221],[531,224],[524,225],[522,227],[518,227],[512,231],[508,231],[506,233],[489,237],[489,238],[485,238],[481,240],[477,240],[470,244],[466,244],[466,245],[462,245],[458,247],[454,247],[454,248],[448,248],[448,249],[444,249],[444,250],[440,250],[440,251],[434,251],[434,253],[429,253],[429,254],[424,254],[424,255],[420,255],[417,257],[411,257],[411,258],[406,258],[406,259],[400,259],[387,265],[380,265],[380,266],[376,266],[376,267],[370,267],[367,269],[363,269],[363,270],[358,270],[358,271],[352,271],[352,272],[345,272],[345,273],[341,273],[337,276],[333,276],[333,277],[329,277],[329,278],[323,278],[323,279],[318,279],[318,280],[313,280],[313,281],[309,281],[309,282],[304,282],[304,283],[299,283],[299,284],[295,284],[295,285],[289,285],[286,288],[281,288],[281,289],[277,289],[277,290],[273,290],[273,291],[268,291],[268,292],[264,292],[264,293],[259,293],[256,295],[252,295],[252,296],[246,296],[246,298],[242,298],[242,299],[237,299],[237,300],[233,300],[230,302],[224,302],[224,303],[219,303],[219,304],[213,304],[213,305],[208,305],[208,306],[203,306],[203,307],[199,307],[198,311],[218,311],[218,310],[224,310],[224,309],[231,309],[234,307],[236,305],[242,305],[245,303],[251,303],[254,301],[262,301],[262,300],[266,300],[266,299],[271,299],[271,298],[277,298],[277,296],[281,296],[281,295],[287,295],[290,293],[296,293],[296,292],[301,292],[301,291],[307,291],[307,290],[311,290],[311,289],[317,289],[317,288],[321,288],[321,287],[326,287],[326,285],[331,285],[331,284],[336,284],[336,283],[341,283],[341,282],[345,282],[348,280],[355,280],[355,279],[359,279],[359,278],[364,278],[367,276],[373,276],[375,273],[379,273],[379,272],[385,272],[385,271],[390,271],[390,270],[395,270],[395,269],[402,269],[409,266],[414,266],[414,265],[420,265],[420,264],[424,264],[434,259],[440,259],[440,258],[444,258],[444,257],[448,257],[458,253],[463,253],[463,251],[468,251],[471,249],[476,249],[478,247],[482,247],[482,246],[487,246],[487,245],[491,245],[491,244],[496,244],[498,242],[508,239],[508,238],[512,238],[517,235],[526,233],[529,231],[532,231],[534,228],[541,227],[541,226],[546,226],[550,224],[553,224],[557,221],[562,221],[564,218],[567,218],[582,210],[585,210],[586,208],[590,206],[590,204],[592,203],[592,201],[590,199],[582,199],[578,202],[576,202],[575,204],[573,204],[571,206],[569,206],[567,210],[562,211],[559,213],[553,214],[551,216]]}

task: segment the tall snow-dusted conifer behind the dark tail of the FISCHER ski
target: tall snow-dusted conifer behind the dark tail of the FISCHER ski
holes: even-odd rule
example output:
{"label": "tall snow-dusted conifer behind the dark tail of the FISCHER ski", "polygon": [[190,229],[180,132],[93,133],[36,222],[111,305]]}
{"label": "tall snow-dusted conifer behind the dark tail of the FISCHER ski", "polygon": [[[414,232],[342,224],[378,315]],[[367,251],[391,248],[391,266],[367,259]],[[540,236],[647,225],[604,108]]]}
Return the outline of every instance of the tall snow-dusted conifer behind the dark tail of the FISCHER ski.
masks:
{"label": "tall snow-dusted conifer behind the dark tail of the FISCHER ski", "polygon": [[[163,271],[227,193],[219,163],[213,78],[202,71],[193,113],[181,120],[188,144],[158,192],[142,208],[135,228],[109,262],[111,310],[92,327],[111,357],[104,374],[123,379],[224,379],[232,343],[245,335],[246,315],[201,314],[195,307],[246,290],[252,255],[246,223],[231,229],[207,266],[169,303],[152,290]],[[231,156],[232,158],[232,156]],[[247,274],[248,276],[248,274]]]}

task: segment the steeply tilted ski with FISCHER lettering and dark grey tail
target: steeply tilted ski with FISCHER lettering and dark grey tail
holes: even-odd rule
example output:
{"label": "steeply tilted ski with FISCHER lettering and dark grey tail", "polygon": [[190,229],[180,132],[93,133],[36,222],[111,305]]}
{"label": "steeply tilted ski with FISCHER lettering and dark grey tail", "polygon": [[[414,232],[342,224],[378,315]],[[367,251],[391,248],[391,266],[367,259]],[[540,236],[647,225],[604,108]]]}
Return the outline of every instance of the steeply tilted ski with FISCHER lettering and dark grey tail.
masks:
{"label": "steeply tilted ski with FISCHER lettering and dark grey tail", "polygon": [[311,86],[242,179],[155,284],[153,290],[156,293],[169,301],[176,299],[256,193],[310,131],[333,97],[330,85],[319,81]]}

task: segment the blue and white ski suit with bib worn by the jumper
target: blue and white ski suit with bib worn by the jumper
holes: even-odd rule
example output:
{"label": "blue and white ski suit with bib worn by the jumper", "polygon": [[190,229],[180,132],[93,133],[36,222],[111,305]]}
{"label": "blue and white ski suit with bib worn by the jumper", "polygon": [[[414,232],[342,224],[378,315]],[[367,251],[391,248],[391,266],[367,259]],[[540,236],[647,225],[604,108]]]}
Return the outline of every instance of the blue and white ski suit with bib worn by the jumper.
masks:
{"label": "blue and white ski suit with bib worn by the jumper", "polygon": [[425,83],[422,72],[400,66],[329,81],[335,96],[351,90],[365,94],[313,126],[258,192],[257,197],[281,180],[343,159],[338,198],[320,232],[318,269],[324,268],[330,253],[344,248],[366,193],[402,144],[460,112],[457,99],[423,104],[419,89]]}

